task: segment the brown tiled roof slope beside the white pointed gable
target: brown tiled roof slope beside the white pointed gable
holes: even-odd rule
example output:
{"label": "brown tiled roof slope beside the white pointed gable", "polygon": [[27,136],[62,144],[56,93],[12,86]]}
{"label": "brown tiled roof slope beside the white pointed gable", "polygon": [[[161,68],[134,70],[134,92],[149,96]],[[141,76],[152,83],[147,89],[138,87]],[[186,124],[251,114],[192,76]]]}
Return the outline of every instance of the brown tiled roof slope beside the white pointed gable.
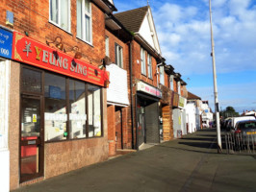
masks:
{"label": "brown tiled roof slope beside the white pointed gable", "polygon": [[142,7],[126,12],[115,13],[115,17],[127,28],[130,32],[136,33],[140,31],[141,23],[144,19],[148,7]]}

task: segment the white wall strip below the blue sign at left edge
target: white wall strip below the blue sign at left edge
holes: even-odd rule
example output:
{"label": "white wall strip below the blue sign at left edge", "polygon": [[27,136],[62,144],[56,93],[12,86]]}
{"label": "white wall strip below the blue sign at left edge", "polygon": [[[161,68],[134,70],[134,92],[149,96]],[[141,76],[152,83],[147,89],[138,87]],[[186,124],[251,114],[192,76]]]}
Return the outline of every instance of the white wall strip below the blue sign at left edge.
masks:
{"label": "white wall strip below the blue sign at left edge", "polygon": [[8,145],[10,60],[0,59],[0,191],[10,190]]}

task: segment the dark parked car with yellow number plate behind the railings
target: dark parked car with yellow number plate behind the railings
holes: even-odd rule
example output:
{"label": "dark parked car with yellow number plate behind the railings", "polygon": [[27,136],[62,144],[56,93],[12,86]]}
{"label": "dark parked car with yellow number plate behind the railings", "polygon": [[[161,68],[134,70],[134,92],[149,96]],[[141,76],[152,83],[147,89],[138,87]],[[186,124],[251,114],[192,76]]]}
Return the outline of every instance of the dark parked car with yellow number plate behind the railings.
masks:
{"label": "dark parked car with yellow number plate behind the railings", "polygon": [[235,134],[241,134],[245,143],[256,144],[256,119],[240,121],[236,124]]}

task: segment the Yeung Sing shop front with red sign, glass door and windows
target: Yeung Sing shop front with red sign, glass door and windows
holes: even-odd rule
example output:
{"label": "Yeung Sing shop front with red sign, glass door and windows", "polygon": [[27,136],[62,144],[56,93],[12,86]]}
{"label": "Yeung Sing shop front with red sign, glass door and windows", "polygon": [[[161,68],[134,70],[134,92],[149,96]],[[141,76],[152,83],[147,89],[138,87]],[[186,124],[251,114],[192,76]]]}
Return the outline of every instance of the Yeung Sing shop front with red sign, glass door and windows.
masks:
{"label": "Yeung Sing shop front with red sign, glass door and windows", "polygon": [[13,34],[13,60],[11,73],[19,76],[11,84],[19,90],[13,114],[18,108],[20,120],[12,125],[19,128],[12,136],[19,146],[12,146],[18,167],[11,177],[47,179],[105,160],[108,73],[19,33]]}

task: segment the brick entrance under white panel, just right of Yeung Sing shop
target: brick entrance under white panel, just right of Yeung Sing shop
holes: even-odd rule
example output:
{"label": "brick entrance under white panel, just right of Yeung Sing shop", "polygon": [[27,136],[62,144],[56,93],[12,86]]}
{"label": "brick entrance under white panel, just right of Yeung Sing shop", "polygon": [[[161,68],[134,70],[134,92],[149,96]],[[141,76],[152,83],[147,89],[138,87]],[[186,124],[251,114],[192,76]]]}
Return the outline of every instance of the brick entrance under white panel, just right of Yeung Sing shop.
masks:
{"label": "brick entrance under white panel, just right of Yeung Sing shop", "polygon": [[106,66],[110,72],[107,90],[109,155],[131,147],[128,141],[128,84],[127,71],[115,63]]}

